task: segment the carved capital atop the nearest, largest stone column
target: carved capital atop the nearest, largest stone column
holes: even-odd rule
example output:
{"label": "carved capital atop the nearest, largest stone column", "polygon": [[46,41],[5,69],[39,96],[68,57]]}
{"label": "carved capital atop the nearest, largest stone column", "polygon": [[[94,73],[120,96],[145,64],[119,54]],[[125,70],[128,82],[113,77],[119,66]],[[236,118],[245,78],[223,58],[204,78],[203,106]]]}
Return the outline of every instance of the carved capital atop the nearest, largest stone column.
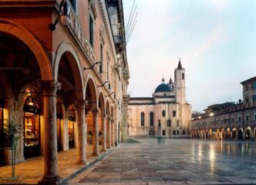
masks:
{"label": "carved capital atop the nearest, largest stone column", "polygon": [[61,87],[61,83],[56,80],[38,80],[38,86],[42,89],[44,96],[56,96],[57,91]]}

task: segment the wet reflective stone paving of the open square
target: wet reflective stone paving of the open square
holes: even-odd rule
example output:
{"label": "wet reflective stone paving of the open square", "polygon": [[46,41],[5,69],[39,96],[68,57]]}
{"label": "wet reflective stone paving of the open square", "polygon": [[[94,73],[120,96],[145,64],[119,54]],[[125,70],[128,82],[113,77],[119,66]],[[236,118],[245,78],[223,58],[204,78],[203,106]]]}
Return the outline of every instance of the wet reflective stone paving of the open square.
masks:
{"label": "wet reflective stone paving of the open square", "polygon": [[256,184],[254,141],[140,139],[69,184]]}

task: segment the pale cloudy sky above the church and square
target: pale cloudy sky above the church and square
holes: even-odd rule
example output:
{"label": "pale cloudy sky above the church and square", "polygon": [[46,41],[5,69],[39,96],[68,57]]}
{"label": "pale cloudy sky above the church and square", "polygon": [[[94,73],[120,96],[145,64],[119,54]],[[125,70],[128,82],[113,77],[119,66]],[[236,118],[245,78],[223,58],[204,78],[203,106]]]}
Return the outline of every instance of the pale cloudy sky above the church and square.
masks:
{"label": "pale cloudy sky above the church and square", "polygon": [[[133,0],[123,0],[128,21]],[[152,96],[174,78],[181,57],[193,110],[242,98],[256,76],[256,0],[136,0],[138,22],[127,45],[131,96]]]}

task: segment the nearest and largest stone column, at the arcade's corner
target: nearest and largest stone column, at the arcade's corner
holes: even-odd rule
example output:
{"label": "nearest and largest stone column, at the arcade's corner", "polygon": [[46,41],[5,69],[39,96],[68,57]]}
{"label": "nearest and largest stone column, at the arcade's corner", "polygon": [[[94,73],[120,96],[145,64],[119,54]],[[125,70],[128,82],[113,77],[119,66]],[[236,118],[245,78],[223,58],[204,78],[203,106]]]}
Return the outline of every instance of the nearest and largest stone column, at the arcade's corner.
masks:
{"label": "nearest and largest stone column, at the arcade's corner", "polygon": [[39,80],[43,92],[43,132],[44,132],[44,175],[40,184],[58,184],[58,149],[56,126],[56,93],[60,83],[55,80]]}

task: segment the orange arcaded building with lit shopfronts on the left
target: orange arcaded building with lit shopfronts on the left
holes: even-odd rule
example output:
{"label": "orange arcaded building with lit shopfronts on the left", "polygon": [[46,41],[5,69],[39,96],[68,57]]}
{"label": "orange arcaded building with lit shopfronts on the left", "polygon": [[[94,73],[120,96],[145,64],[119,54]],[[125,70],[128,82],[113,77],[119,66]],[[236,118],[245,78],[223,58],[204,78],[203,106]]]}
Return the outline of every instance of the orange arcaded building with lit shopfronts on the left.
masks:
{"label": "orange arcaded building with lit shopfronts on the left", "polygon": [[128,79],[122,0],[0,2],[0,145],[21,125],[17,162],[43,155],[41,183],[59,182],[58,151],[86,164],[120,143]]}

